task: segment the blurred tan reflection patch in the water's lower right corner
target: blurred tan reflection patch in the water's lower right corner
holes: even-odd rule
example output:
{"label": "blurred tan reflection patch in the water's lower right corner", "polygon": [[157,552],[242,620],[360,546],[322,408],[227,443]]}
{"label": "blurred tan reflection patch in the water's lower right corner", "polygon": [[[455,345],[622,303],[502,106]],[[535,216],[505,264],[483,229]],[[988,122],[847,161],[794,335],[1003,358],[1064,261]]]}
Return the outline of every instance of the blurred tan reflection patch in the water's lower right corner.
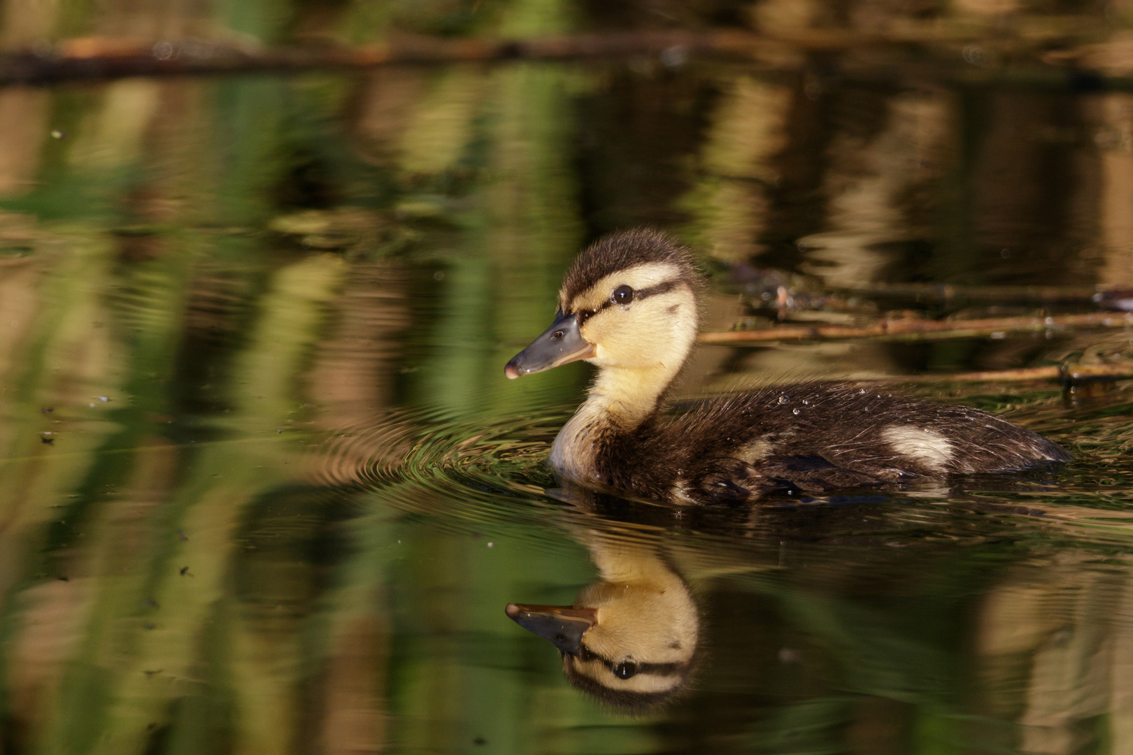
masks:
{"label": "blurred tan reflection patch in the water's lower right corner", "polygon": [[976,650],[988,704],[1019,721],[1024,752],[1080,752],[1099,717],[1109,752],[1133,752],[1131,569],[1064,552],[1016,567],[983,599]]}

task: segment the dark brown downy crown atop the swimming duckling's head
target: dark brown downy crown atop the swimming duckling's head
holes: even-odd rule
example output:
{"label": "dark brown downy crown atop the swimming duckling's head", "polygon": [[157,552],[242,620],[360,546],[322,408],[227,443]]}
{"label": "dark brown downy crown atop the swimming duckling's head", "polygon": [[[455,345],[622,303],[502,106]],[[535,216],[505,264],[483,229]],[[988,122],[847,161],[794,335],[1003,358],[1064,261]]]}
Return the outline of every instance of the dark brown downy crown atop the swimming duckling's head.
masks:
{"label": "dark brown downy crown atop the swimming duckling's head", "polygon": [[651,229],[620,231],[604,237],[574,258],[563,280],[563,303],[570,302],[602,278],[650,263],[668,263],[681,268],[681,277],[697,288],[692,252],[676,239]]}

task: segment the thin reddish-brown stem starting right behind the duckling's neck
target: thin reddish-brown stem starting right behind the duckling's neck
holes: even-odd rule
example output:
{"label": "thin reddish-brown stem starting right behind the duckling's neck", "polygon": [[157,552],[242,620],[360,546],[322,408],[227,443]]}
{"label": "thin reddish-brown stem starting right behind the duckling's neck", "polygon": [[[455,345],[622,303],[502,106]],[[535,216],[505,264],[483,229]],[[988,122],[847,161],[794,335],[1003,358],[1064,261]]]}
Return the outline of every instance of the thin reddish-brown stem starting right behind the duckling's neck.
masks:
{"label": "thin reddish-brown stem starting right behind the duckling's neck", "polygon": [[811,338],[965,338],[997,335],[999,333],[1025,333],[1053,328],[1128,326],[1133,326],[1133,315],[1116,312],[1090,312],[1087,315],[1060,315],[1057,317],[994,317],[978,320],[921,320],[908,318],[878,320],[871,325],[860,327],[845,325],[789,325],[760,331],[701,333],[699,340],[700,343],[743,346],[772,341],[804,341]]}

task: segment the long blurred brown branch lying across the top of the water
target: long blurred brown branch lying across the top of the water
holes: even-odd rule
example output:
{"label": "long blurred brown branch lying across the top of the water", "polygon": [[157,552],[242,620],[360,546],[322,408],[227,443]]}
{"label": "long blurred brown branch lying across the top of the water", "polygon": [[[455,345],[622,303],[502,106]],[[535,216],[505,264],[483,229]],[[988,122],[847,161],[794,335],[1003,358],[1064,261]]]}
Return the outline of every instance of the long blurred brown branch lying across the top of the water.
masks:
{"label": "long blurred brown branch lying across the top of the water", "polygon": [[[1031,67],[970,65],[954,48],[976,44],[981,55],[991,52],[1042,52],[1071,36],[1097,32],[1084,22],[1050,28],[1038,26],[1005,35],[982,27],[914,24],[879,33],[812,28],[768,35],[739,29],[634,31],[545,36],[527,40],[441,38],[397,36],[382,43],[340,46],[296,45],[259,48],[211,40],[130,40],[83,37],[63,41],[29,52],[0,53],[0,84],[34,84],[76,78],[114,78],[218,74],[258,70],[306,70],[317,68],[373,68],[389,65],[423,65],[460,61],[570,60],[630,55],[659,55],[666,65],[681,65],[689,55],[725,55],[744,60],[766,58],[783,68],[784,49],[837,52],[863,48],[937,46],[945,55],[934,69],[918,63],[918,75],[1024,86],[1081,87],[1133,91],[1133,78],[1105,76],[1038,62]],[[971,43],[971,44],[969,44]],[[766,53],[772,53],[769,57]],[[971,55],[969,55],[970,58]],[[981,58],[982,60],[982,58]],[[953,63],[959,63],[959,67]],[[803,63],[796,63],[803,65]],[[842,71],[858,77],[893,78],[908,75],[906,65],[880,65],[870,69]],[[1089,80],[1085,80],[1089,79]]]}

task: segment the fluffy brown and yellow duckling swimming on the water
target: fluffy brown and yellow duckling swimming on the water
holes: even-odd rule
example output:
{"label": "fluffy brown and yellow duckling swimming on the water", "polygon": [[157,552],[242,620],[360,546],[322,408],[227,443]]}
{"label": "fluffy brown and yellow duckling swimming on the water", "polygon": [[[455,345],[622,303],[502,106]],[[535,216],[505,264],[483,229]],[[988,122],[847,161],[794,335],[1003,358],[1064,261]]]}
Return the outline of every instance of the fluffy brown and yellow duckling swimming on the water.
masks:
{"label": "fluffy brown and yellow duckling swimming on the water", "polygon": [[753,501],[1071,458],[988,412],[828,383],[666,411],[696,341],[699,285],[691,252],[658,231],[608,235],[571,264],[551,327],[504,368],[513,379],[577,360],[598,367],[552,444],[559,474],[673,503]]}

